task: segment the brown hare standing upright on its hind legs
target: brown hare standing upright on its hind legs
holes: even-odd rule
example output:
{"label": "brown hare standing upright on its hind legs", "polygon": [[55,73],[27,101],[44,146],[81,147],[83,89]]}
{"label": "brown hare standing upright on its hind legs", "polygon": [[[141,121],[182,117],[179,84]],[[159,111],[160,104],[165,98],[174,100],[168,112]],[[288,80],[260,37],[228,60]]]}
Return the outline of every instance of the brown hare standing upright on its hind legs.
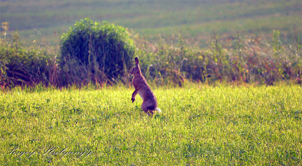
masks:
{"label": "brown hare standing upright on its hind legs", "polygon": [[139,61],[138,58],[135,58],[136,66],[130,70],[130,74],[134,75],[134,78],[132,79],[133,87],[135,88],[131,101],[132,103],[135,101],[135,96],[137,93],[142,97],[143,103],[141,105],[141,108],[145,113],[147,113],[149,116],[153,116],[153,111],[161,112],[159,108],[157,108],[157,101],[156,97],[151,91],[150,87],[147,84],[147,81],[145,77],[142,75],[140,71],[140,66],[138,65]]}

